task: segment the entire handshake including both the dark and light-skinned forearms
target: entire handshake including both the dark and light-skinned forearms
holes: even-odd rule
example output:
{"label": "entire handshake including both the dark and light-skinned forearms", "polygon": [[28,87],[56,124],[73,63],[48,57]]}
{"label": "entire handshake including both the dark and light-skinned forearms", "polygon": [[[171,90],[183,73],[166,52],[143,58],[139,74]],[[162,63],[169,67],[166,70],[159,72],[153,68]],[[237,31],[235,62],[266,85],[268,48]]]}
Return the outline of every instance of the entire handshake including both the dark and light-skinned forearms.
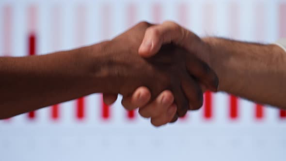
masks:
{"label": "entire handshake including both the dark and light-skinned forearms", "polygon": [[0,57],[0,119],[93,93],[109,105],[123,95],[122,105],[139,108],[154,126],[199,109],[206,90],[286,109],[285,62],[279,44],[200,38],[174,22],[141,22],[83,48]]}

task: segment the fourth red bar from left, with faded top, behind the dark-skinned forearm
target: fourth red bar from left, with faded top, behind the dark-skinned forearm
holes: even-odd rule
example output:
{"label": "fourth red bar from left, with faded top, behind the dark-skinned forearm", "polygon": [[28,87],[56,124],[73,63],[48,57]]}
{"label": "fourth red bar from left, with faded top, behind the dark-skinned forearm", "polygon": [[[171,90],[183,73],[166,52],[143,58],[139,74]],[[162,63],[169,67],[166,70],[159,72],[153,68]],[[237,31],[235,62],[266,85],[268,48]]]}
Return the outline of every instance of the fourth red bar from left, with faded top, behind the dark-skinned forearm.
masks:
{"label": "fourth red bar from left, with faded top, behind the dark-skinned forearm", "polygon": [[[82,46],[86,40],[86,8],[83,5],[77,7],[76,14],[76,39],[77,45]],[[76,100],[76,116],[79,120],[83,120],[85,116],[85,98],[80,97]]]}

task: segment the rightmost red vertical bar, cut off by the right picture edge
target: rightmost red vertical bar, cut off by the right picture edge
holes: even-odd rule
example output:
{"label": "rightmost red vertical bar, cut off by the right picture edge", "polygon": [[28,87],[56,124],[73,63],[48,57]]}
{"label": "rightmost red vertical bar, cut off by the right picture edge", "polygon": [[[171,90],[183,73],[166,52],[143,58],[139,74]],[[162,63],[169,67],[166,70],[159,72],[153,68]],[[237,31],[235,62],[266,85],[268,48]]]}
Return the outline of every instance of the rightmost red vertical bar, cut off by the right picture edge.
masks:
{"label": "rightmost red vertical bar, cut off by the right picture edge", "polygon": [[[279,5],[279,37],[286,38],[286,3]],[[279,111],[280,118],[286,119],[286,111]]]}

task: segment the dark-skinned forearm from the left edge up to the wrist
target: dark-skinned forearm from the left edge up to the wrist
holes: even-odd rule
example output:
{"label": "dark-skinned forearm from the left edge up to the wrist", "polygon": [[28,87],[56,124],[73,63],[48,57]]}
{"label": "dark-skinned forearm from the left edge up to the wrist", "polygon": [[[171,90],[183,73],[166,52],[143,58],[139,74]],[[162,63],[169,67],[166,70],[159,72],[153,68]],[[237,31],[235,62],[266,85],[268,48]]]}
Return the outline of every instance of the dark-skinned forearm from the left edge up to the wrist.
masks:
{"label": "dark-skinned forearm from the left edge up to the wrist", "polygon": [[[105,70],[107,42],[70,51],[0,58],[0,118],[92,93],[119,92]],[[115,91],[112,91],[115,90]]]}

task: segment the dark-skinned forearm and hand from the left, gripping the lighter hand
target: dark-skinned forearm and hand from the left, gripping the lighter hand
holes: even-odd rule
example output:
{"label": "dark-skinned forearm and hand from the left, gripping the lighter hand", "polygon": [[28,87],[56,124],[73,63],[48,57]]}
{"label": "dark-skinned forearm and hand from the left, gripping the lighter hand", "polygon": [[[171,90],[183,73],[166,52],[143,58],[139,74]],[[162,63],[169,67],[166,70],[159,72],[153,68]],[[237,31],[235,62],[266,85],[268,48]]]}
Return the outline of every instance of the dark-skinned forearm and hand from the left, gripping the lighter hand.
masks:
{"label": "dark-skinned forearm and hand from the left, gripping the lighter hand", "polygon": [[[171,107],[160,120],[152,120],[156,125],[160,125],[162,120],[170,122],[176,118],[175,113],[183,116],[189,102],[194,108],[201,106],[202,90],[190,75],[187,61],[193,60],[193,68],[205,72],[202,76],[210,78],[206,84],[212,88],[215,88],[217,76],[207,64],[174,44],[163,45],[154,57],[141,57],[138,48],[149,26],[142,22],[111,41],[70,51],[1,57],[0,118],[92,93],[119,93],[127,98],[140,86],[150,89],[150,100]],[[159,95],[166,90],[172,91],[176,105],[173,100],[168,101],[171,92]],[[158,95],[160,99],[155,99]],[[137,94],[138,98],[142,96]]]}

